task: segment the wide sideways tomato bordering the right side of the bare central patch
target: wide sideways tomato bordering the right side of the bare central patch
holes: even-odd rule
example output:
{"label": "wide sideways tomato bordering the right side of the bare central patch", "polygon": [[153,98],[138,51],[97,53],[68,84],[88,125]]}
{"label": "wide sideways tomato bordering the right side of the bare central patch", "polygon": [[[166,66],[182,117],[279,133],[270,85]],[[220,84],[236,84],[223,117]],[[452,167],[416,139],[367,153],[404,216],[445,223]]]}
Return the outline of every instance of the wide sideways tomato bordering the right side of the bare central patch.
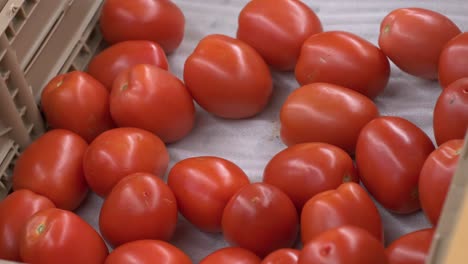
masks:
{"label": "wide sideways tomato bordering the right side of the bare central patch", "polygon": [[281,107],[281,139],[288,146],[325,142],[353,153],[359,131],[377,116],[369,98],[334,84],[313,83],[294,90]]}

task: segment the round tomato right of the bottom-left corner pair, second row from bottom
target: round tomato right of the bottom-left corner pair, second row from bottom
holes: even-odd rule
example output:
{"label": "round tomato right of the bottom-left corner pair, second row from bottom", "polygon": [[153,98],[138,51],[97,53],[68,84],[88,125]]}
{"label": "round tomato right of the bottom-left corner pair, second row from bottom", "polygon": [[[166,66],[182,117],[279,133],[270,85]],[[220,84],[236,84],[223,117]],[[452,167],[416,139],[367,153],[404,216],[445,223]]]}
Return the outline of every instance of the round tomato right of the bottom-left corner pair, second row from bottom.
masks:
{"label": "round tomato right of the bottom-left corner pair, second row from bottom", "polygon": [[[131,228],[123,228],[131,223]],[[99,215],[102,236],[113,246],[140,240],[169,240],[177,224],[177,202],[156,175],[134,173],[117,183]]]}

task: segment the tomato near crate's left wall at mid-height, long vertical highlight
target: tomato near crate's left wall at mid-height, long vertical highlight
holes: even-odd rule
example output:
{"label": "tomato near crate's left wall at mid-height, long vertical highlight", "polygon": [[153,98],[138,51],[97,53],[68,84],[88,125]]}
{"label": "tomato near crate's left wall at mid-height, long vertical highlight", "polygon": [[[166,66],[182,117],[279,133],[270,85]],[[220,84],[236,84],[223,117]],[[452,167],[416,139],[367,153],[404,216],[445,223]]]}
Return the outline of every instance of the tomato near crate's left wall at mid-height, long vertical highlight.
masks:
{"label": "tomato near crate's left wall at mid-height, long vertical highlight", "polygon": [[87,193],[83,156],[88,144],[77,134],[51,130],[18,158],[13,171],[13,189],[29,189],[49,198],[58,208],[75,210]]}

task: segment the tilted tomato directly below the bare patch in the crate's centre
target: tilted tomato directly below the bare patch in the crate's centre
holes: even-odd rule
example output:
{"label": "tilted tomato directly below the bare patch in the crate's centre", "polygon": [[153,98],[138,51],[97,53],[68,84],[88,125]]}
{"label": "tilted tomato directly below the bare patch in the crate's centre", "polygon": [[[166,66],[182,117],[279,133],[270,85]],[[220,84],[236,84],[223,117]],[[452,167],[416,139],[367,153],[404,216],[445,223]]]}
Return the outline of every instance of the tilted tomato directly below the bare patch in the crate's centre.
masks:
{"label": "tilted tomato directly below the bare patch in the crate's centre", "polygon": [[207,232],[221,231],[221,218],[229,199],[249,178],[236,164],[218,157],[179,161],[167,178],[182,215]]}

